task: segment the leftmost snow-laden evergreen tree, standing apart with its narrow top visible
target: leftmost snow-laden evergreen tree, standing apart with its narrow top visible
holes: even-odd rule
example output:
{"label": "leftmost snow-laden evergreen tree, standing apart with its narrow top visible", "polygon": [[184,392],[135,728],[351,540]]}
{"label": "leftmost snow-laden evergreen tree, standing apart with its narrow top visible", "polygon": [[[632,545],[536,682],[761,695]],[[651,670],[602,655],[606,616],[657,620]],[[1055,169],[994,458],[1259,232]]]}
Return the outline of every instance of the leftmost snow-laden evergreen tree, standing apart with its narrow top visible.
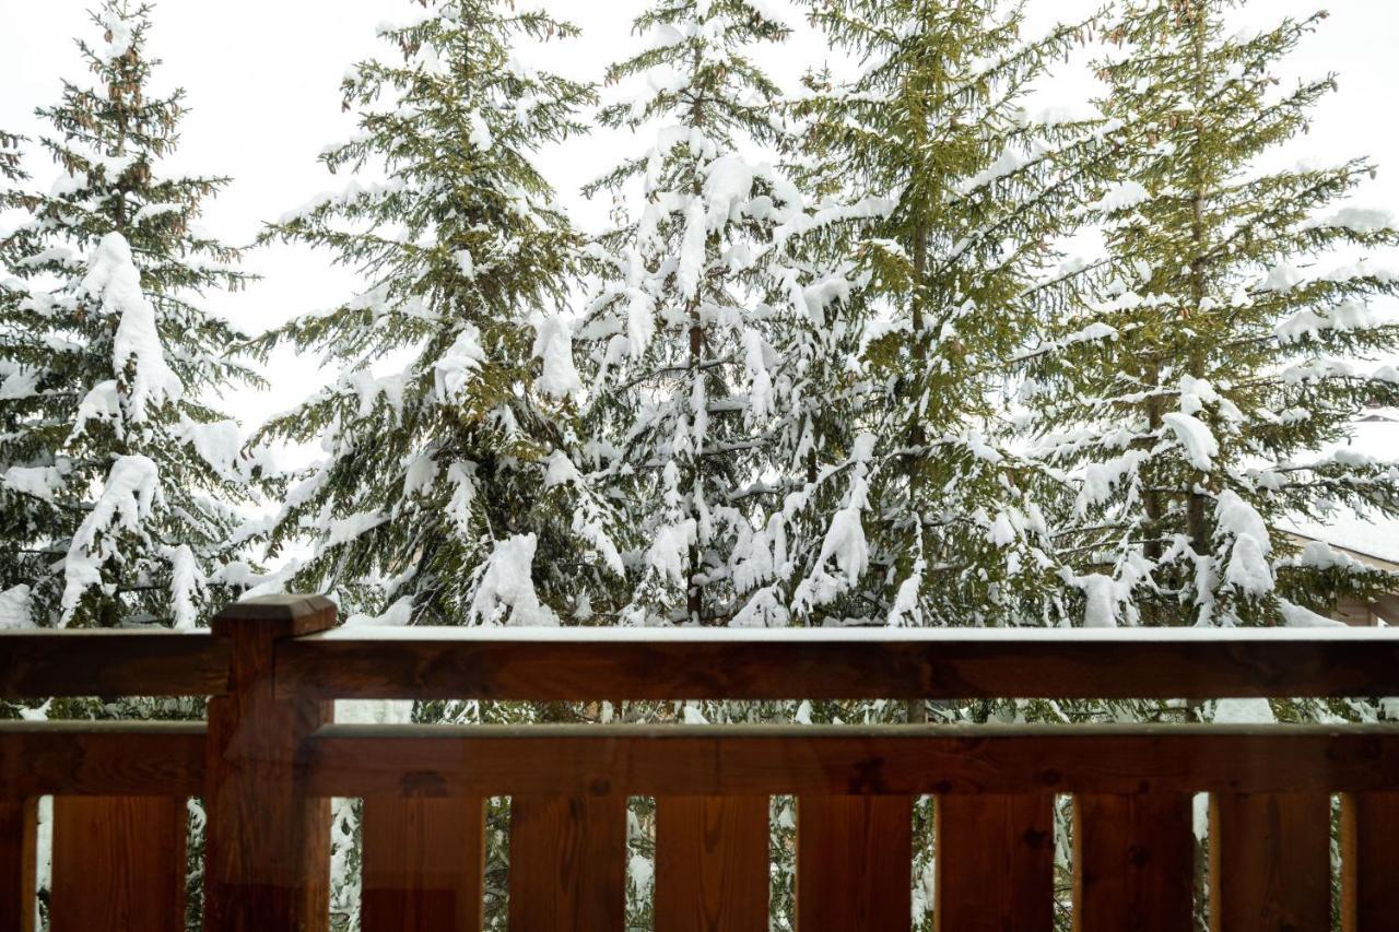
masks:
{"label": "leftmost snow-laden evergreen tree, standing apart with its narrow top visible", "polygon": [[95,87],[38,111],[59,181],[3,195],[25,217],[0,239],[0,591],[11,624],[187,627],[248,575],[239,431],[210,400],[253,375],[199,306],[246,276],[196,225],[227,179],[159,174],[185,104],[150,90],[150,7],[91,18]]}

